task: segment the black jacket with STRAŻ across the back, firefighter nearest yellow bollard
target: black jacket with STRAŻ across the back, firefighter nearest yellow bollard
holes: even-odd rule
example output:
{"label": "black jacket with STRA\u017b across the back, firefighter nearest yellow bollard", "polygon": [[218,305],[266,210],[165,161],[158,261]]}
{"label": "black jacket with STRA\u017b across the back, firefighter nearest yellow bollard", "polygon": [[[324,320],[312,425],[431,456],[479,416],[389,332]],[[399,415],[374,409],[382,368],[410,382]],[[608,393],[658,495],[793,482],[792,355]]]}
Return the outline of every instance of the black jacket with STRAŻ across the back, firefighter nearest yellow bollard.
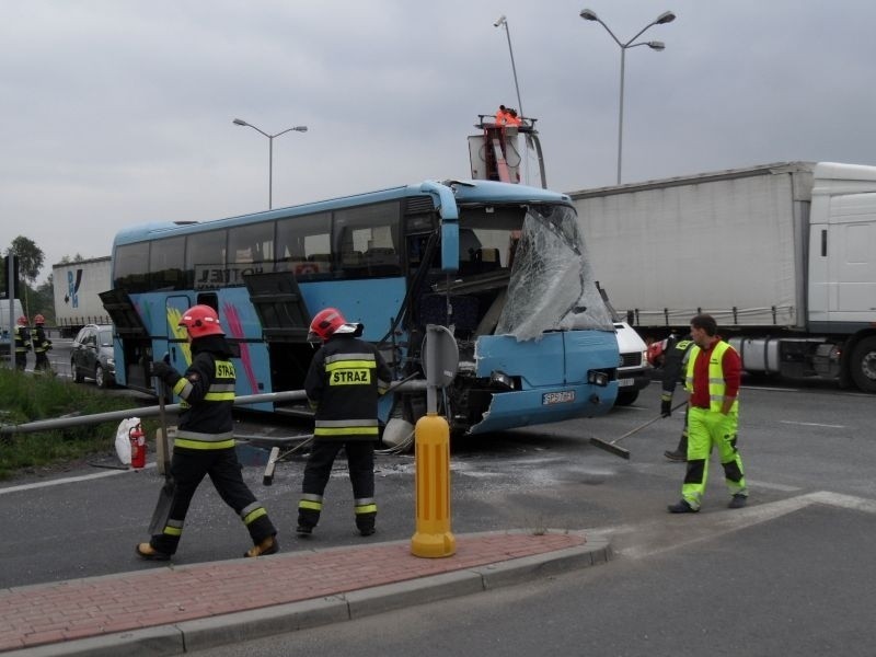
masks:
{"label": "black jacket with STRA\u017b across the back, firefighter nearest yellow bollard", "polygon": [[304,391],[316,411],[316,440],[377,440],[379,395],[392,372],[373,345],[351,335],[334,335],[316,351]]}

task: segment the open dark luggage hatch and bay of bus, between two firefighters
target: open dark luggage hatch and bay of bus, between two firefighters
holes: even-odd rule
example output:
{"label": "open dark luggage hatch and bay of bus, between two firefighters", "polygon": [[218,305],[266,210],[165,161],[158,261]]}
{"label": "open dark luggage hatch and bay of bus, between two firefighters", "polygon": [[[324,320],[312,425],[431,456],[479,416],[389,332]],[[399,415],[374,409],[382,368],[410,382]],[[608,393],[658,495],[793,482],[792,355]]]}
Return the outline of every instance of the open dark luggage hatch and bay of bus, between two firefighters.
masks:
{"label": "open dark luggage hatch and bay of bus, between two firefighters", "polygon": [[[243,283],[267,343],[272,391],[302,390],[315,349],[308,343],[311,315],[295,275],[290,272],[250,274],[243,277]],[[312,415],[299,406],[301,402],[291,402],[276,410]]]}

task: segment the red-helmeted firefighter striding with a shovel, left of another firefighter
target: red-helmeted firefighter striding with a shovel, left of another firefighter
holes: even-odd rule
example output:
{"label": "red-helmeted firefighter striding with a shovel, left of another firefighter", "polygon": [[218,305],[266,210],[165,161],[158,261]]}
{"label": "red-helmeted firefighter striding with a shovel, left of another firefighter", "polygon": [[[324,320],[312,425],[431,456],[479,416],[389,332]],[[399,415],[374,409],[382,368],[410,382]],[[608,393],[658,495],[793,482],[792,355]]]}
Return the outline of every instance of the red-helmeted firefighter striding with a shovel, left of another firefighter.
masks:
{"label": "red-helmeted firefighter striding with a shovel, left of another firefighter", "polygon": [[244,556],[274,554],[279,549],[277,530],[243,481],[234,450],[234,366],[219,316],[209,306],[193,306],[180,326],[188,335],[192,365],[180,376],[166,362],[152,364],[152,372],[182,400],[171,461],[173,500],[163,531],[137,545],[137,554],[166,561],[176,552],[188,505],[205,475],[250,532],[253,548]]}

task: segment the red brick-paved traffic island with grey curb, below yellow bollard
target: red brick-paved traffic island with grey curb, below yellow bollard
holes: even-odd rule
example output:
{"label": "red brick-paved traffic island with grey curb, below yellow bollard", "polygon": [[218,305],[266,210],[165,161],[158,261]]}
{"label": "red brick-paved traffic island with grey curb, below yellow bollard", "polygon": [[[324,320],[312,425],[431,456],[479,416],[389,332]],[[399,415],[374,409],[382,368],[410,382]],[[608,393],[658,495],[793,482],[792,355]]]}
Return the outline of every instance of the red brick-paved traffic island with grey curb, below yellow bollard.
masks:
{"label": "red brick-paved traffic island with grey curb, below yellow bollard", "polygon": [[[606,539],[463,534],[443,558],[410,541],[280,553],[0,591],[3,657],[182,655],[608,562]],[[132,548],[131,548],[132,549]]]}

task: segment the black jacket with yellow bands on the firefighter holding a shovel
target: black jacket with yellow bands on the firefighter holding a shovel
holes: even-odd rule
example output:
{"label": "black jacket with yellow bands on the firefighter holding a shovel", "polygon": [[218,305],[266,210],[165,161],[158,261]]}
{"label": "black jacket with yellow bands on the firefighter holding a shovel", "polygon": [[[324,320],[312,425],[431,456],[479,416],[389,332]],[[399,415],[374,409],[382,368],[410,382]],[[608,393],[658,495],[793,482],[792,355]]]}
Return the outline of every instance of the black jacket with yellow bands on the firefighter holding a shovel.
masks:
{"label": "black jacket with yellow bands on the firefighter holding a shovel", "polygon": [[180,376],[171,370],[164,382],[181,397],[174,449],[226,449],[234,447],[234,365],[221,335],[192,341],[192,365]]}

